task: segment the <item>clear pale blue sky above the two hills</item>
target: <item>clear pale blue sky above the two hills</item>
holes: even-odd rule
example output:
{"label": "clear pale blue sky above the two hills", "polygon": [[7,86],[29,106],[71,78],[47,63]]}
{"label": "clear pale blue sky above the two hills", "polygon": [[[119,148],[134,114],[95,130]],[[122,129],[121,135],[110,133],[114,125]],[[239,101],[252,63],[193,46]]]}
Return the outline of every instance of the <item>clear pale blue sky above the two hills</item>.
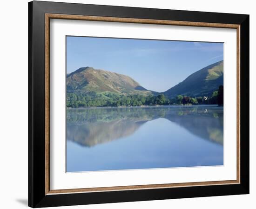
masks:
{"label": "clear pale blue sky above the two hills", "polygon": [[67,36],[67,73],[90,66],[158,92],[220,60],[223,43]]}

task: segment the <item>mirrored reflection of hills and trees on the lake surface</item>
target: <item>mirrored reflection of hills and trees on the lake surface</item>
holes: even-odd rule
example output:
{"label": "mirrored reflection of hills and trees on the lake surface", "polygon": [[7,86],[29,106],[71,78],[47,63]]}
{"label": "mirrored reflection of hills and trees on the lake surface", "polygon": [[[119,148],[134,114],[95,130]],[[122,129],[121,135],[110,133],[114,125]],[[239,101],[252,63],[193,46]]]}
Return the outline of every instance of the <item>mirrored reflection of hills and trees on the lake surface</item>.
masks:
{"label": "mirrored reflection of hills and trees on the lake surface", "polygon": [[223,145],[223,107],[209,105],[68,109],[67,140],[92,147],[128,137],[141,125],[158,118]]}

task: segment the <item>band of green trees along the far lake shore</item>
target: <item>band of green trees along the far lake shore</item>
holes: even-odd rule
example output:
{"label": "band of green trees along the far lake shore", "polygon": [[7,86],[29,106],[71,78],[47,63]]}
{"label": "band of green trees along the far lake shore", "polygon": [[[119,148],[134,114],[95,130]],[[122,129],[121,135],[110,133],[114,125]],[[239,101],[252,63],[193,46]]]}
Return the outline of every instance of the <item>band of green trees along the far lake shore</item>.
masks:
{"label": "band of green trees along the far lake shore", "polygon": [[171,105],[171,104],[219,104],[223,105],[223,86],[219,86],[211,97],[189,97],[178,95],[175,98],[167,98],[163,94],[157,96],[148,95],[120,95],[115,93],[97,94],[67,93],[67,107],[107,107],[107,106],[141,106],[141,105]]}

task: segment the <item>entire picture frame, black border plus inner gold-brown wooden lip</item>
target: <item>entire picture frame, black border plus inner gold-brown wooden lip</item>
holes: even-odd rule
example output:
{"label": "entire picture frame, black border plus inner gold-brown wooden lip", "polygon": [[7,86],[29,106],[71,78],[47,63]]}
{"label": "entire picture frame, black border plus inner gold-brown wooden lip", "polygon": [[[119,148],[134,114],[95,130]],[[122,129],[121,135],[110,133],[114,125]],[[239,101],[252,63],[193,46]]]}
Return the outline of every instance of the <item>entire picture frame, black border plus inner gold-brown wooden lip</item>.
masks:
{"label": "entire picture frame, black border plus inner gold-brown wooden lip", "polygon": [[[50,189],[50,19],[235,28],[237,178],[230,181]],[[249,194],[249,15],[32,1],[28,3],[28,205],[49,207]]]}

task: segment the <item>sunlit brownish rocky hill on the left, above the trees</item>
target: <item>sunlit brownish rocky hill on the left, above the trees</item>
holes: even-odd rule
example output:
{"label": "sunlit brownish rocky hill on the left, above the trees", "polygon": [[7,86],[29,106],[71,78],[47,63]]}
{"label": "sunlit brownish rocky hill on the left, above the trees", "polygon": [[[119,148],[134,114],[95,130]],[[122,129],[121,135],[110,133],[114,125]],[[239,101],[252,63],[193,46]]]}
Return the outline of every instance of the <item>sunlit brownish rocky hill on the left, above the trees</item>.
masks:
{"label": "sunlit brownish rocky hill on the left, above the trees", "polygon": [[134,79],[115,72],[81,67],[67,74],[67,92],[113,92],[118,94],[152,94]]}

